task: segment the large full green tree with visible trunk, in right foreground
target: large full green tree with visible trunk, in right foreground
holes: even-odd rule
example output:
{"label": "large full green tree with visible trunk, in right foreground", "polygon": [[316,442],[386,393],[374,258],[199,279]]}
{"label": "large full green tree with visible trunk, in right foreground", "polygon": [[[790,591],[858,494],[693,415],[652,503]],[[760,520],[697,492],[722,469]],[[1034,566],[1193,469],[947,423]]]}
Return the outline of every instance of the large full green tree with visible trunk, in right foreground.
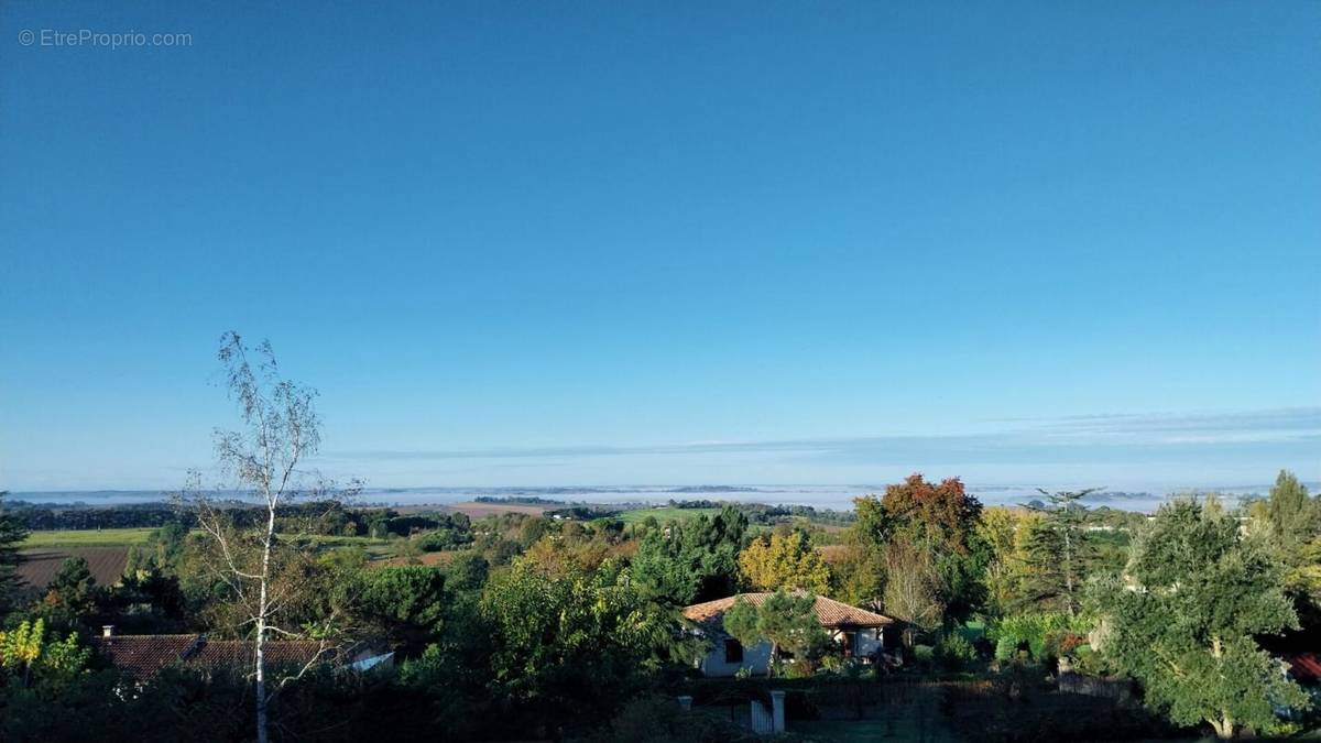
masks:
{"label": "large full green tree with visible trunk, in right foreground", "polygon": [[1296,628],[1271,553],[1234,518],[1165,505],[1133,543],[1125,578],[1095,586],[1100,649],[1139,680],[1176,723],[1206,721],[1221,738],[1269,731],[1272,706],[1308,706],[1280,661],[1254,639]]}

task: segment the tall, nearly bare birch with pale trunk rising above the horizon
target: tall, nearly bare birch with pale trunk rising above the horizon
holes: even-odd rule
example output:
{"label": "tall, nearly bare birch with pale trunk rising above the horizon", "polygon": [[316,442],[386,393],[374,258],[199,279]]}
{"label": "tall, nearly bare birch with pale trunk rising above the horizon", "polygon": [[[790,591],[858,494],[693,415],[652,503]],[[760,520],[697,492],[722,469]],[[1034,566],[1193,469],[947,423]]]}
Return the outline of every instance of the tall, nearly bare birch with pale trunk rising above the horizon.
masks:
{"label": "tall, nearly bare birch with pale trunk rising above the horizon", "polygon": [[[297,535],[288,530],[295,520],[281,517],[287,529],[280,533],[276,518],[299,502],[341,501],[355,493],[358,484],[341,489],[306,467],[321,444],[321,419],[313,405],[317,393],[280,375],[268,341],[252,352],[238,333],[225,333],[219,361],[242,426],[215,431],[217,469],[223,484],[203,489],[201,476],[194,473],[184,498],[196,508],[198,524],[210,537],[207,567],[234,599],[235,631],[252,637],[256,739],[267,743],[271,701],[284,685],[337,649],[328,627],[333,617],[324,617],[321,627],[293,628],[279,623],[281,611],[297,599],[303,586],[297,571],[281,570],[297,557]],[[262,517],[254,521],[251,509],[223,502],[225,493],[244,502],[255,500]],[[297,673],[271,680],[266,644],[272,636],[316,640],[317,649]]]}

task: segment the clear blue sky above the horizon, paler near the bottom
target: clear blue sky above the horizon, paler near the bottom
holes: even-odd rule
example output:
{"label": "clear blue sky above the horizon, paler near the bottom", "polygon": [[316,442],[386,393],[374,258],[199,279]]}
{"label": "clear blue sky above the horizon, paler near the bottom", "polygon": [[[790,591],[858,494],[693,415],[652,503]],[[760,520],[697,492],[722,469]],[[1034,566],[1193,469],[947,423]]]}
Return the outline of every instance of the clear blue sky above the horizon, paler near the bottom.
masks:
{"label": "clear blue sky above the horizon, paler near the bottom", "polygon": [[1321,476],[1321,4],[910,5],[5,1],[0,488]]}

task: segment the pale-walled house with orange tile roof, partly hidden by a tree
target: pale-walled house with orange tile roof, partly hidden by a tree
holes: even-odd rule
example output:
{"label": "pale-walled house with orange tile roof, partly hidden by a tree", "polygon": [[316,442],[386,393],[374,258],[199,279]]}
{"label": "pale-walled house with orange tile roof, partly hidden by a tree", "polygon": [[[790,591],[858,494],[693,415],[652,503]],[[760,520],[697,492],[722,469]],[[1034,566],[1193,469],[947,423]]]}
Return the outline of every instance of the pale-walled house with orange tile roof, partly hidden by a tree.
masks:
{"label": "pale-walled house with orange tile roof, partly hidden by a tree", "polygon": [[[770,643],[760,643],[753,648],[744,648],[724,629],[725,612],[734,602],[742,599],[756,606],[761,606],[774,594],[738,594],[684,607],[683,616],[696,625],[696,632],[712,640],[712,648],[697,664],[705,676],[734,676],[740,669],[748,669],[753,674],[765,674],[770,670]],[[844,648],[845,657],[855,657],[863,662],[871,662],[885,649],[885,628],[894,624],[894,620],[852,607],[835,599],[816,596],[812,606],[816,621],[820,623],[826,633]]]}

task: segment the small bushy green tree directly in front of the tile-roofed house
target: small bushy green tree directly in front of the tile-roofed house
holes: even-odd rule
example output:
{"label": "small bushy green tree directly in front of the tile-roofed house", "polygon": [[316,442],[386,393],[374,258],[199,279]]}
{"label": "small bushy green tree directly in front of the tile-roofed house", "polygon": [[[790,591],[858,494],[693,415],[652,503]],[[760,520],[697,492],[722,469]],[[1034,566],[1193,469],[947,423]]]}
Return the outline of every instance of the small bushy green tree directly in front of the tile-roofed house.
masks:
{"label": "small bushy green tree directly in front of the tile-roofed house", "polygon": [[782,652],[810,658],[830,641],[816,619],[815,607],[816,596],[811,594],[775,591],[760,604],[736,599],[723,621],[725,632],[749,648],[770,643],[771,664],[768,672],[774,673]]}

